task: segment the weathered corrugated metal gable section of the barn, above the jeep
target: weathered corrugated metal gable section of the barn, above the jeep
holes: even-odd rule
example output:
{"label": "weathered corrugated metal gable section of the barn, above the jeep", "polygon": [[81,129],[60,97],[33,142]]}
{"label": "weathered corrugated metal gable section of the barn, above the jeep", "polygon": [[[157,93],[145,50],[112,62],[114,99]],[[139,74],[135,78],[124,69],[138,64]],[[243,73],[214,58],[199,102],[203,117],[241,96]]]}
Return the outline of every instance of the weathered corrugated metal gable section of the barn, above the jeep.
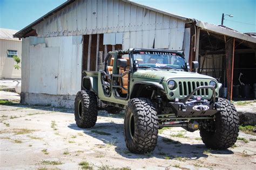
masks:
{"label": "weathered corrugated metal gable section of the barn, above the jeep", "polygon": [[118,0],[78,0],[33,29],[38,37],[123,32],[124,49],[154,42],[155,48],[181,50],[185,20]]}

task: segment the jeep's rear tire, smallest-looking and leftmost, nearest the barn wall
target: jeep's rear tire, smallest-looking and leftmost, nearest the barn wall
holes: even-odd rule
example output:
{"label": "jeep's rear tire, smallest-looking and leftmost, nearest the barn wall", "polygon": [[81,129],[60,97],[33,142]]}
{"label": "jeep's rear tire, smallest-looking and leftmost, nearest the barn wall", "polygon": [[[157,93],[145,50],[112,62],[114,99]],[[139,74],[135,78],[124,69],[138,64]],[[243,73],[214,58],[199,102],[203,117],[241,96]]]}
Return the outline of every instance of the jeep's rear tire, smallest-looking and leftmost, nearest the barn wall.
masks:
{"label": "jeep's rear tire, smallest-looking and leftmost, nearest the barn wall", "polygon": [[79,128],[92,128],[97,121],[97,98],[92,91],[78,91],[75,98],[75,121]]}

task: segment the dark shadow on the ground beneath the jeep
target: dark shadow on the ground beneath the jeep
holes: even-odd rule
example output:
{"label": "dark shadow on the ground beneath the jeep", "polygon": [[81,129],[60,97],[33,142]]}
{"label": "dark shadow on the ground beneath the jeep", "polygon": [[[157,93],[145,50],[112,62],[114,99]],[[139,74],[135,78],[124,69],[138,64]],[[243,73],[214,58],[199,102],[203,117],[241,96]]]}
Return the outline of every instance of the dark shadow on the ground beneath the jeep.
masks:
{"label": "dark shadow on the ground beneath the jeep", "polygon": [[133,154],[125,145],[123,124],[112,122],[96,123],[92,129],[81,129],[76,124],[70,124],[68,127],[73,130],[83,131],[85,134],[103,141],[105,144],[115,145],[116,152],[122,157],[131,159],[176,159],[176,160],[195,160],[208,157],[209,153],[217,154],[233,154],[230,150],[212,151],[204,144],[186,144],[170,138],[158,136],[158,144],[152,153],[148,154]]}

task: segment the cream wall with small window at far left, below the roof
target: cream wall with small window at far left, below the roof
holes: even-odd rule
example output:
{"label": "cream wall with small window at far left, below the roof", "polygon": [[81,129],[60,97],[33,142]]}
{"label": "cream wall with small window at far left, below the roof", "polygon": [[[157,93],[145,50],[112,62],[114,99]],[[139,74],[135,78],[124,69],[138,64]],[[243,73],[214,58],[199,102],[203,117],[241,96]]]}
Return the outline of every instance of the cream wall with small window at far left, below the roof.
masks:
{"label": "cream wall with small window at far left, below the roof", "polygon": [[[22,42],[16,40],[0,39],[0,78],[21,79],[21,69],[15,69],[16,62],[7,57],[7,50],[17,50],[18,56],[22,56]],[[21,66],[21,64],[20,64]]]}

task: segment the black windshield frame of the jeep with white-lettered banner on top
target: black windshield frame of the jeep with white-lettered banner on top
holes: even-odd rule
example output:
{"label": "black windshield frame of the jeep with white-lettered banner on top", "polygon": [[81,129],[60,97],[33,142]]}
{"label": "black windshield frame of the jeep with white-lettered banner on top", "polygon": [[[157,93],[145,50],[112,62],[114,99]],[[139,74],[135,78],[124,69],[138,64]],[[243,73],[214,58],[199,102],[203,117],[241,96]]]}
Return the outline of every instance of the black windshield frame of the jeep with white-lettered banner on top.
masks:
{"label": "black windshield frame of the jeep with white-lettered banner on top", "polygon": [[[172,51],[172,50],[166,50],[166,49],[133,49],[132,51],[131,51],[131,53],[130,53],[130,58],[132,59],[132,60],[130,60],[130,62],[131,62],[131,66],[132,66],[132,71],[133,70],[136,70],[136,69],[134,69],[133,67],[133,63],[134,63],[134,54],[139,54],[139,52],[152,52],[152,53],[155,53],[155,54],[163,54],[163,53],[175,53],[176,55],[178,55],[178,56],[180,56],[181,58],[183,58],[184,59],[184,61],[185,61],[185,68],[175,68],[175,69],[177,69],[177,70],[183,70],[183,71],[185,71],[185,72],[187,72],[188,71],[188,69],[187,69],[187,61],[186,61],[186,59],[185,59],[185,57],[184,57],[184,53],[183,52],[181,52],[181,51]],[[168,66],[168,65],[167,65]],[[171,66],[170,66],[171,67]],[[154,67],[154,68],[157,68],[157,69],[159,69],[159,70],[162,70],[162,69],[170,69],[170,68],[161,68],[161,67]],[[140,68],[140,69],[150,69],[150,68]]]}

